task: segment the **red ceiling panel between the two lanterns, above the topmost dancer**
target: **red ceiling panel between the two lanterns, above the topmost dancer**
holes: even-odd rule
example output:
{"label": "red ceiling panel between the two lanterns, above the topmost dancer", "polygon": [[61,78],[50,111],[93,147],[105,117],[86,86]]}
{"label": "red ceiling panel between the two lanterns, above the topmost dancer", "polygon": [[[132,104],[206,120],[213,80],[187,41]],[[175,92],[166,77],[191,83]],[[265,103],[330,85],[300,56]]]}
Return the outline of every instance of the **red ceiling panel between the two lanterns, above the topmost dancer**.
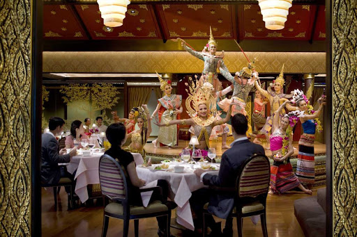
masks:
{"label": "red ceiling panel between the two lanterns, above the topmost dancer", "polygon": [[235,37],[234,5],[159,4],[157,6],[167,38]]}

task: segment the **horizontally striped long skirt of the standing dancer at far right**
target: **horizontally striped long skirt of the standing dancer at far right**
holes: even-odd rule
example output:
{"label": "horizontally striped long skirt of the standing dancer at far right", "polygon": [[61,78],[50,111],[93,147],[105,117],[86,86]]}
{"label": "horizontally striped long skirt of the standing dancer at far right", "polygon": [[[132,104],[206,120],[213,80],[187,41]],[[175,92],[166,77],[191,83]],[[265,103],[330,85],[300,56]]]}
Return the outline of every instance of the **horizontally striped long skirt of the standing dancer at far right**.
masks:
{"label": "horizontally striped long skirt of the standing dancer at far right", "polygon": [[314,136],[302,135],[298,141],[298,163],[296,176],[303,184],[312,184],[315,180]]}

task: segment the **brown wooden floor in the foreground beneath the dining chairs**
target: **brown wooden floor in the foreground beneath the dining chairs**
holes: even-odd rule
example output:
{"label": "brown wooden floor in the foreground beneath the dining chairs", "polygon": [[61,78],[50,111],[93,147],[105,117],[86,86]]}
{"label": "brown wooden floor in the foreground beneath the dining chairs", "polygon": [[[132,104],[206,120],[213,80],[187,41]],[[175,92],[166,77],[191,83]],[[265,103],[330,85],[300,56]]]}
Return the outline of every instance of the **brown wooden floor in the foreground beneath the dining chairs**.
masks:
{"label": "brown wooden floor in the foreground beneath the dining chairs", "polygon": [[[321,187],[319,187],[321,188]],[[317,195],[317,189],[313,189],[313,195]],[[67,211],[67,198],[64,188],[61,189],[61,201],[57,211],[54,211],[52,193],[43,189],[42,194],[42,236],[91,236],[101,235],[102,231],[102,206],[81,207],[73,211]],[[290,192],[284,195],[269,195],[267,199],[267,228],[268,236],[304,236],[294,216],[294,200],[310,197],[301,192]],[[173,212],[174,215],[174,212]],[[224,224],[222,224],[224,226]],[[140,220],[139,236],[158,236],[155,218]],[[122,236],[123,221],[110,220],[107,236]],[[174,236],[184,236],[181,230],[173,229]],[[134,236],[134,222],[130,222],[129,236]],[[234,220],[234,236],[237,236],[236,222]],[[243,236],[262,236],[261,225],[252,224],[245,218],[243,224]]]}

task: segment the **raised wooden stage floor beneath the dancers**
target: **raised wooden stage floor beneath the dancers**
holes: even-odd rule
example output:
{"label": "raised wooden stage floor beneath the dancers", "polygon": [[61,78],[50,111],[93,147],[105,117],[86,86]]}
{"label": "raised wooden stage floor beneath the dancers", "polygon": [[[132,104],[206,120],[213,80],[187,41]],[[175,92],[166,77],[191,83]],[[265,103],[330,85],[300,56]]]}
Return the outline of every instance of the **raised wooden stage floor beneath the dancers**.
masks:
{"label": "raised wooden stage floor beneath the dancers", "polygon": [[[233,139],[227,140],[227,144],[231,144]],[[145,151],[147,154],[162,154],[167,156],[179,156],[182,149],[188,147],[188,140],[179,140],[179,145],[177,147],[168,148],[168,147],[159,147],[155,148],[153,143],[147,143],[145,145]],[[271,156],[271,150],[268,149],[268,145],[265,143],[261,144],[265,148],[266,156]],[[298,142],[293,142],[294,154],[292,156],[298,156]],[[227,149],[222,149],[222,143],[218,141],[210,141],[210,147],[214,147],[217,156],[222,156],[223,152]],[[315,142],[314,144],[314,154],[326,154],[326,144],[320,142]]]}

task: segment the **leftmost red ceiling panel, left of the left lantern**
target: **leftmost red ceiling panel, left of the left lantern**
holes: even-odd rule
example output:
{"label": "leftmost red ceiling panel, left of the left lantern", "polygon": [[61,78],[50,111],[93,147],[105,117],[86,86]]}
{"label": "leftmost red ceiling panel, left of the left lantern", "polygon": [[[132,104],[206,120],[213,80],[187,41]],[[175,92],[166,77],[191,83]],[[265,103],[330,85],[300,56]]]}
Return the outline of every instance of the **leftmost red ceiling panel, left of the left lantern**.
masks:
{"label": "leftmost red ceiling panel, left of the left lantern", "polygon": [[43,6],[43,37],[56,40],[88,39],[68,5]]}

